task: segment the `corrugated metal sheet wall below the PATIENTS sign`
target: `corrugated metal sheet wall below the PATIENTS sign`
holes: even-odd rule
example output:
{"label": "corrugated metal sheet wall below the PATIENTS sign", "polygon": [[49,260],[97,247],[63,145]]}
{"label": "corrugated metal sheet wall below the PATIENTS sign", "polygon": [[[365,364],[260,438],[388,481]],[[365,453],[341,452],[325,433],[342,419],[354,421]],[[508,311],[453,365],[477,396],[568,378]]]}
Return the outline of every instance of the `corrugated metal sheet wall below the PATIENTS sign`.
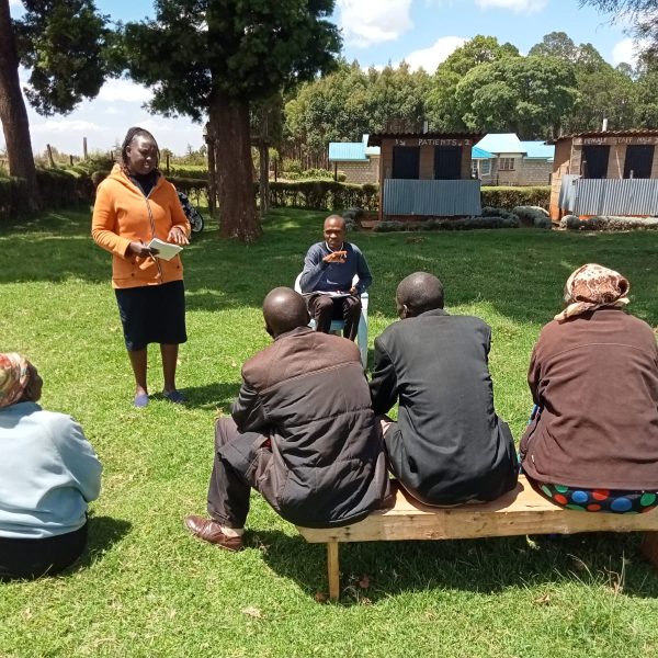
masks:
{"label": "corrugated metal sheet wall below the PATIENTS sign", "polygon": [[397,216],[480,215],[480,182],[386,179],[383,211]]}

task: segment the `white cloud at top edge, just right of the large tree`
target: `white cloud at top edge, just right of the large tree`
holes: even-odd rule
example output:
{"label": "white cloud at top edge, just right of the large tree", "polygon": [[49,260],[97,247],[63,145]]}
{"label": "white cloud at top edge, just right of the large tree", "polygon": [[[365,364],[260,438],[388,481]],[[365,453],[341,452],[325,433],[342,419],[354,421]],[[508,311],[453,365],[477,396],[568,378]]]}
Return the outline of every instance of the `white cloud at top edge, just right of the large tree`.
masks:
{"label": "white cloud at top edge, just right of the large tree", "polygon": [[345,41],[366,47],[396,41],[412,27],[411,0],[338,0]]}

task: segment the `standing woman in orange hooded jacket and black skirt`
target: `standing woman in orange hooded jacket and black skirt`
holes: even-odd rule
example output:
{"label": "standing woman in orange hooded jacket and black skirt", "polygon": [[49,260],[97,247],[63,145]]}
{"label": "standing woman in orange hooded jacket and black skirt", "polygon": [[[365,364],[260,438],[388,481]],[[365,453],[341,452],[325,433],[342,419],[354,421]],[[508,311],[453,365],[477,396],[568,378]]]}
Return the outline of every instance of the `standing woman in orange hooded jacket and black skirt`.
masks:
{"label": "standing woman in orange hooded jacket and black skirt", "polygon": [[189,245],[190,223],[174,186],[158,170],[160,151],[144,128],[128,131],[121,163],[99,185],[91,235],[112,253],[112,286],[135,375],[135,407],[148,405],[147,345],[160,343],[164,388],[172,402],[184,401],[175,387],[179,344],[188,340],[183,265],[179,256],[157,258],[147,245],[159,238]]}

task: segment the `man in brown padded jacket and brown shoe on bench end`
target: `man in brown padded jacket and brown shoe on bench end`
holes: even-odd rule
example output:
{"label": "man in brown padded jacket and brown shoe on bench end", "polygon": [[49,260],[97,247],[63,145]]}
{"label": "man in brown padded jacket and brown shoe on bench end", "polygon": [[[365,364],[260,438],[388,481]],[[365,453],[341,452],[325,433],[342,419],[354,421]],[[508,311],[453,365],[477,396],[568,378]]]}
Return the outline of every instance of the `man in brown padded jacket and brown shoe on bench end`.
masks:
{"label": "man in brown padded jacket and brown shoe on bench end", "polygon": [[383,444],[356,345],[313,331],[302,295],[263,303],[274,339],[242,367],[231,418],[215,430],[208,513],[185,518],[198,538],[242,548],[253,487],[287,521],[331,527],[360,521],[388,496]]}

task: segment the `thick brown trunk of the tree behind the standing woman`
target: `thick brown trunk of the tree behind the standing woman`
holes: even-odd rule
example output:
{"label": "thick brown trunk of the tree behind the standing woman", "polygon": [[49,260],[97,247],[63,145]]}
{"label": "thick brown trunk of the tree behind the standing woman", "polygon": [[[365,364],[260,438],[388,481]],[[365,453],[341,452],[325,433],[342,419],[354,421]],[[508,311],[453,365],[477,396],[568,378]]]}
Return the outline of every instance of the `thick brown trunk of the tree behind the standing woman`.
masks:
{"label": "thick brown trunk of the tree behind the standing woman", "polygon": [[262,235],[256,213],[249,103],[217,93],[209,107],[211,128],[217,136],[219,234],[252,242]]}

